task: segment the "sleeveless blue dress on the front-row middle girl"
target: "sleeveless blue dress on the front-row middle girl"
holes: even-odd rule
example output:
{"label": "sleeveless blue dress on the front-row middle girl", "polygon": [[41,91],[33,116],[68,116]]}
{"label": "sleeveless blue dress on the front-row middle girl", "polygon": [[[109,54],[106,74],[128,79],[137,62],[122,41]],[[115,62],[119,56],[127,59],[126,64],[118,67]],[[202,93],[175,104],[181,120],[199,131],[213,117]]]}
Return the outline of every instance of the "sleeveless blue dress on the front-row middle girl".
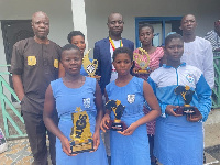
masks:
{"label": "sleeveless blue dress on the front-row middle girl", "polygon": [[[125,106],[122,121],[127,127],[144,117],[143,112],[143,79],[133,77],[124,87],[118,87],[116,81],[107,85],[109,100],[120,100]],[[111,120],[114,119],[113,111]],[[150,165],[148,138],[146,124],[140,125],[132,135],[110,132],[111,165]]]}

